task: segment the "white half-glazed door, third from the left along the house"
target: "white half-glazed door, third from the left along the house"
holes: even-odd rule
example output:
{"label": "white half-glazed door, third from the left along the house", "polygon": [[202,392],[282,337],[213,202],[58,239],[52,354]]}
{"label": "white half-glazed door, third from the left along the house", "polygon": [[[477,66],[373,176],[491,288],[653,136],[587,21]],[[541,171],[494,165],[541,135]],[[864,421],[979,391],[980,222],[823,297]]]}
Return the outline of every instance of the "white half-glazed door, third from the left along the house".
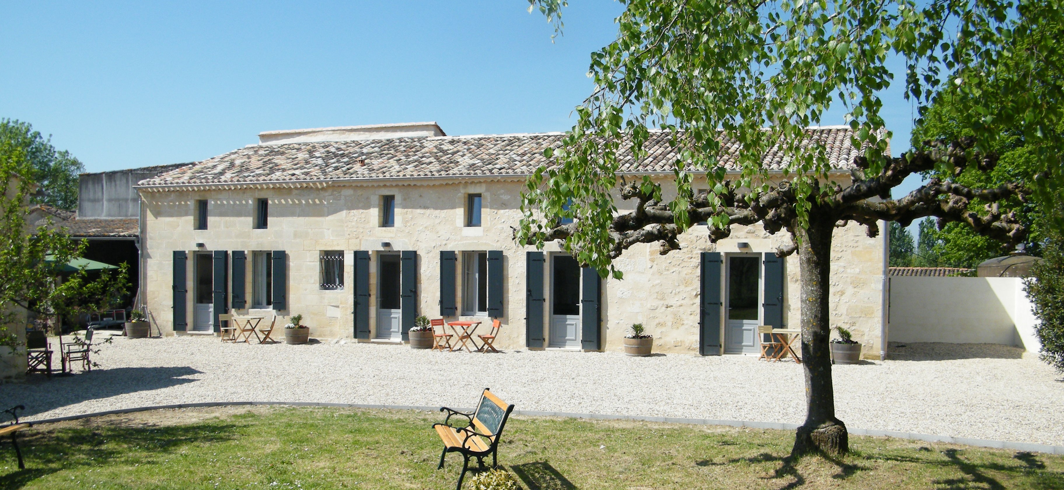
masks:
{"label": "white half-glazed door, third from the left along the house", "polygon": [[550,277],[548,344],[580,349],[580,264],[569,255],[553,255]]}

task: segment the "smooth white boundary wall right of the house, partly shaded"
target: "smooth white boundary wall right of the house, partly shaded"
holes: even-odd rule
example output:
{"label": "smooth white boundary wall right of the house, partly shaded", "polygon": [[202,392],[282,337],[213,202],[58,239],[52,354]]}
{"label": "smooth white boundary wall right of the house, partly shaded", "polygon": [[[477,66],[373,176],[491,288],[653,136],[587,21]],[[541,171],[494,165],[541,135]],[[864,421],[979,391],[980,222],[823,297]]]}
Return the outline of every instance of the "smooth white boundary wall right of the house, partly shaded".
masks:
{"label": "smooth white boundary wall right of the house, partly shaded", "polygon": [[892,342],[1001,343],[1038,352],[1020,277],[891,277]]}

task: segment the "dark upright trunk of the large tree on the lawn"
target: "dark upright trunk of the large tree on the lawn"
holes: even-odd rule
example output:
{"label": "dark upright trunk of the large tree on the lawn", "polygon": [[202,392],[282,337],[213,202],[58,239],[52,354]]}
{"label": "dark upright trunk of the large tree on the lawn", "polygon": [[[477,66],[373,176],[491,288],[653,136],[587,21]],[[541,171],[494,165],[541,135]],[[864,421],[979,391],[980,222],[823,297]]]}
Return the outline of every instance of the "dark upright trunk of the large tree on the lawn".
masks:
{"label": "dark upright trunk of the large tree on the lawn", "polygon": [[831,234],[835,219],[810,209],[809,227],[795,226],[801,269],[801,357],[805,371],[805,422],[798,427],[792,455],[849,451],[846,425],[835,418],[831,384],[831,323],[828,309]]}

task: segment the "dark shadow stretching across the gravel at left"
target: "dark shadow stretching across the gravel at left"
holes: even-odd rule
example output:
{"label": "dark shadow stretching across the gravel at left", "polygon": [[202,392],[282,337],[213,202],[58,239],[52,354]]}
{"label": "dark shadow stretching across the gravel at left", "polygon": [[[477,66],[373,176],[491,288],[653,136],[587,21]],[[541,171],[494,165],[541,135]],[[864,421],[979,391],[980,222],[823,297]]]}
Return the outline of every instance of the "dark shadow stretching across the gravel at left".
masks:
{"label": "dark shadow stretching across the gravel at left", "polygon": [[28,378],[24,384],[0,386],[0,400],[26,405],[19,413],[32,421],[33,416],[87,400],[105,399],[118,394],[151,391],[192,383],[182,376],[200,374],[187,366],[169,368],[115,368],[85,371],[72,376],[45,376]]}

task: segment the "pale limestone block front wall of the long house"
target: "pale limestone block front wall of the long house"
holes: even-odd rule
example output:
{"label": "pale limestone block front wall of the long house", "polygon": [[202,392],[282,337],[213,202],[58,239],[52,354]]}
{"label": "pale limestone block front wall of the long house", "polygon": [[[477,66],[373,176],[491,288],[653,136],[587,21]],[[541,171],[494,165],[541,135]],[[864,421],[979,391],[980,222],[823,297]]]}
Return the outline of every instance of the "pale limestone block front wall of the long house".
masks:
{"label": "pale limestone block front wall of the long house", "polygon": [[[666,186],[667,187],[667,186]],[[288,317],[303,315],[316,338],[352,338],[353,252],[370,251],[370,325],[376,326],[377,264],[381,253],[414,250],[418,254],[419,315],[439,317],[439,251],[489,251],[503,253],[503,317],[496,344],[504,349],[526,345],[526,252],[516,244],[511,226],[520,219],[523,182],[417,181],[403,184],[348,184],[300,188],[202,189],[142,192],[145,208],[143,237],[146,260],[144,294],[152,321],[172,335],[172,251],[243,250],[248,252],[246,291],[251,300],[252,251],[284,250],[288,269],[288,309],[277,311],[278,326]],[[482,195],[482,225],[464,226],[466,195]],[[379,226],[381,196],[396,198],[394,227]],[[252,217],[256,199],[269,199],[269,227],[254,230]],[[207,199],[207,230],[193,230],[196,200]],[[621,209],[629,203],[618,202]],[[699,341],[699,253],[771,253],[789,239],[770,236],[760,225],[735,226],[732,236],[710,243],[705,226],[693,226],[682,236],[682,250],[660,255],[656,244],[641,244],[617,259],[625,273],[621,281],[601,283],[601,325],[603,349],[619,351],[632,323],[643,323],[655,337],[655,351],[697,353]],[[739,250],[738,242],[749,243]],[[197,249],[196,243],[203,243]],[[389,243],[390,247],[384,247]],[[345,287],[319,289],[320,251],[344,251]],[[545,253],[561,253],[548,243]],[[837,229],[832,263],[833,324],[854,332],[866,353],[878,355],[882,319],[882,278],[885,242],[868,238],[864,229]],[[459,254],[458,304],[462,305],[463,259]],[[189,260],[188,281],[193,281]],[[800,304],[796,256],[785,260],[784,322],[798,326]],[[724,281],[724,278],[721,280]],[[545,284],[549,282],[549,272]],[[188,321],[192,322],[192,288]],[[721,289],[724,290],[724,289]],[[245,311],[239,311],[245,312]],[[251,309],[268,318],[272,310]],[[462,317],[466,319],[466,317]],[[486,331],[489,319],[484,321]],[[549,330],[549,322],[544,328]],[[724,321],[721,319],[721,324]],[[278,331],[280,332],[280,331]],[[283,334],[281,334],[283,335]],[[722,334],[721,334],[722,335]]]}

